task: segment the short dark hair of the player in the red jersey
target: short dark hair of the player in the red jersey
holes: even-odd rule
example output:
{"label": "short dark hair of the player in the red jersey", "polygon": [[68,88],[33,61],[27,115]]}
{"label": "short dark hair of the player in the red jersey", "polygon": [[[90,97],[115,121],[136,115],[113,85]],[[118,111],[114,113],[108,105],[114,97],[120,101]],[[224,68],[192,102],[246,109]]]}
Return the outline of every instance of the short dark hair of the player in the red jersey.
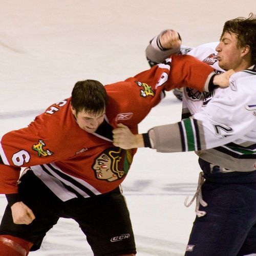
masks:
{"label": "short dark hair of the player in the red jersey", "polygon": [[101,114],[107,101],[103,84],[96,80],[78,81],[72,90],[71,104],[76,113],[84,110],[93,115]]}

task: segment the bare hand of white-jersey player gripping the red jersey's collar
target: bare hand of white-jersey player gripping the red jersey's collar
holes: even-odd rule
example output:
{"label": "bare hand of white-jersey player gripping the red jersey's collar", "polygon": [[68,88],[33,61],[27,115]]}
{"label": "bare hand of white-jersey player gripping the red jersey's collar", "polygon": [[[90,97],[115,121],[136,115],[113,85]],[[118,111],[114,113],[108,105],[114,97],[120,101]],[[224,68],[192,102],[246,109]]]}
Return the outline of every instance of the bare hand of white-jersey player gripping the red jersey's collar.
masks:
{"label": "bare hand of white-jersey player gripping the red jersey's collar", "polygon": [[135,147],[143,147],[143,137],[140,134],[133,134],[129,127],[122,123],[117,124],[118,128],[113,130],[113,144],[124,150]]}

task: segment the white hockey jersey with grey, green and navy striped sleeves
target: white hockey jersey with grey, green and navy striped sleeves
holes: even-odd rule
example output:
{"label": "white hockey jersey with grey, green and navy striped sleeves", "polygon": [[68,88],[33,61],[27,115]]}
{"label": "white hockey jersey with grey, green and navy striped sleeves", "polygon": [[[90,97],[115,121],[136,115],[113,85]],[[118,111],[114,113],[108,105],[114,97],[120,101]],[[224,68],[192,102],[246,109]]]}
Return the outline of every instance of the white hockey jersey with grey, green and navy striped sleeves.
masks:
{"label": "white hockey jersey with grey, green and navy striped sleeves", "polygon": [[[216,46],[205,44],[188,54],[221,73]],[[154,51],[157,54],[159,49]],[[203,160],[221,166],[223,172],[256,170],[255,95],[255,65],[232,75],[228,88],[218,88],[212,94],[184,88],[182,121],[154,127],[150,131],[154,147],[158,152],[196,151]]]}

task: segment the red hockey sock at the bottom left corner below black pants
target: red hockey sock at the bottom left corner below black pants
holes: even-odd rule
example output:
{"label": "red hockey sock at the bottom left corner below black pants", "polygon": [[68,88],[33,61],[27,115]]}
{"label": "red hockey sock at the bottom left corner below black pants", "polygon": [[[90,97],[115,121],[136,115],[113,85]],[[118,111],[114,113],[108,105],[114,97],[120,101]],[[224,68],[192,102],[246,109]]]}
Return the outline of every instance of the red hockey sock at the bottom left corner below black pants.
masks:
{"label": "red hockey sock at the bottom left corner below black pants", "polygon": [[33,243],[21,238],[8,234],[0,235],[0,251],[3,256],[27,256],[32,245]]}

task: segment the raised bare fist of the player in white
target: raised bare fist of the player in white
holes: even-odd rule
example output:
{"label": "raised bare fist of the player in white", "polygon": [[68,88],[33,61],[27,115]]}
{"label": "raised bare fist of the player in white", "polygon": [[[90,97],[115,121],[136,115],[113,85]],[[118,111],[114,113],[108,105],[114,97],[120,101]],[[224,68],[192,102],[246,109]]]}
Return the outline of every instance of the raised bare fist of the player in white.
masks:
{"label": "raised bare fist of the player in white", "polygon": [[160,43],[165,49],[180,50],[181,40],[177,31],[168,29],[164,31],[159,37]]}

